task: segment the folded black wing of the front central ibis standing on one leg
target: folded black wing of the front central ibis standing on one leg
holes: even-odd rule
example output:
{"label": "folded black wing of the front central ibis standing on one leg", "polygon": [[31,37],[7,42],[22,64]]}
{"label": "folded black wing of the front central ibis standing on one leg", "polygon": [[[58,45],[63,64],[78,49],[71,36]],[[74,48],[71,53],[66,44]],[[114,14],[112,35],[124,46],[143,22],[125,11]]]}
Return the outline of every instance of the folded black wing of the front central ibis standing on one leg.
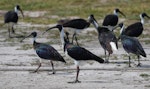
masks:
{"label": "folded black wing of the front central ibis standing on one leg", "polygon": [[67,48],[68,55],[75,60],[95,60],[100,63],[103,63],[104,60],[97,57],[90,51],[86,50],[85,48],[74,46],[71,48]]}

